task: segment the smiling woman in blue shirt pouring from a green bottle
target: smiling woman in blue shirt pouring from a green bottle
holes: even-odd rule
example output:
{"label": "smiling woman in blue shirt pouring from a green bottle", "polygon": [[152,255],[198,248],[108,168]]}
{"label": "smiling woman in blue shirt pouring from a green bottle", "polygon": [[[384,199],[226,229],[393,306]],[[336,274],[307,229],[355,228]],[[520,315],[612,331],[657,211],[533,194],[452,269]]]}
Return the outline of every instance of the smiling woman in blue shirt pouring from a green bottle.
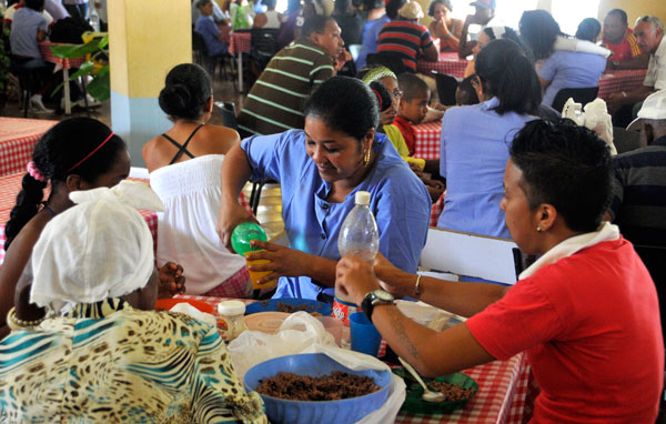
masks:
{"label": "smiling woman in blue shirt pouring from a green bottle", "polygon": [[384,134],[375,132],[377,101],[360,80],[335,77],[306,101],[305,129],[252,137],[232,148],[222,165],[218,232],[231,232],[253,218],[238,203],[248,179],[276,180],[290,248],[255,241],[265,249],[253,265],[280,277],[275,297],[332,301],[337,234],[354,206],[356,191],[371,193],[380,230],[380,252],[402,270],[416,271],[425,244],[430,196]]}

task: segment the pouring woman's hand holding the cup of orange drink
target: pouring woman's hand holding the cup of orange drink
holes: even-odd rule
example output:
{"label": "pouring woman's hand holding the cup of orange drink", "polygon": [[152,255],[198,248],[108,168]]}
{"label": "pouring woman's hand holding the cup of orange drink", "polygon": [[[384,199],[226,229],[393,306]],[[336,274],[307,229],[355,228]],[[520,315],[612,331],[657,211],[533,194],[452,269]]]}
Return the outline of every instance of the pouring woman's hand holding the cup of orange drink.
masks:
{"label": "pouring woman's hand holding the cup of orange drink", "polygon": [[269,260],[270,263],[250,265],[250,271],[262,272],[272,271],[270,274],[258,280],[258,284],[266,283],[281,276],[301,276],[307,275],[307,263],[311,255],[296,249],[285,248],[280,244],[252,240],[250,244],[253,248],[263,249],[248,253],[248,261]]}

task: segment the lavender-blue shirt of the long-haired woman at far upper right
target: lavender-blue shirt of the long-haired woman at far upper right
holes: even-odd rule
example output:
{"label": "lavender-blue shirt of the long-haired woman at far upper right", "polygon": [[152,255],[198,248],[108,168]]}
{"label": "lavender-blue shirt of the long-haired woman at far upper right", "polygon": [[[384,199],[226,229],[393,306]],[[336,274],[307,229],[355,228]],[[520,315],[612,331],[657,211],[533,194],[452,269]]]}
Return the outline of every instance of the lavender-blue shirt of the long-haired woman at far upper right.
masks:
{"label": "lavender-blue shirt of the long-haired woman at far upper right", "polygon": [[599,54],[558,50],[544,61],[538,77],[551,81],[542,103],[553,105],[562,89],[597,87],[606,69],[606,58]]}

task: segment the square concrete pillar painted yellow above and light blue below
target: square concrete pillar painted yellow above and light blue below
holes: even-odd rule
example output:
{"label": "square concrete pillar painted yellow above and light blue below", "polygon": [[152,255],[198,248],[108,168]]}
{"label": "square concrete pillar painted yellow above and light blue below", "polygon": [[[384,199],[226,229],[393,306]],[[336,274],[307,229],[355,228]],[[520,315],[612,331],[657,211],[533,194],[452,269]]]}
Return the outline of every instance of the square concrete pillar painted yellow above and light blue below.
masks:
{"label": "square concrete pillar painted yellow above and light blue below", "polygon": [[134,166],[145,165],[143,144],[171,127],[158,97],[171,68],[192,61],[190,8],[190,0],[109,2],[111,125]]}

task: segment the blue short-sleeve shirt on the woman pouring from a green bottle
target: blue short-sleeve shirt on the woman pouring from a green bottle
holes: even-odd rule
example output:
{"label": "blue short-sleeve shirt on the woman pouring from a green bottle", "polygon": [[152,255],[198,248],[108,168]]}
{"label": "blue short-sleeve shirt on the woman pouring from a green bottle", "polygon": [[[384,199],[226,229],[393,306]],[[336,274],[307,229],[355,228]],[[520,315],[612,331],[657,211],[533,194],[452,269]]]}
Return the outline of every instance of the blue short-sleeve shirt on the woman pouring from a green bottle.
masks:
{"label": "blue short-sleeve shirt on the woman pouring from a green bottle", "polygon": [[[331,184],[322,180],[305,151],[303,130],[251,137],[241,143],[254,181],[273,179],[282,190],[282,218],[292,249],[340,259],[337,234],[354,206],[356,191],[370,192],[370,210],[380,231],[380,252],[395,266],[415,272],[425,245],[431,200],[423,183],[410,170],[384,134],[376,134],[373,150],[380,155],[373,170],[342,203],[325,201]],[[275,297],[316,299],[324,291],[307,276],[281,277]],[[332,287],[325,289],[333,294]]]}

